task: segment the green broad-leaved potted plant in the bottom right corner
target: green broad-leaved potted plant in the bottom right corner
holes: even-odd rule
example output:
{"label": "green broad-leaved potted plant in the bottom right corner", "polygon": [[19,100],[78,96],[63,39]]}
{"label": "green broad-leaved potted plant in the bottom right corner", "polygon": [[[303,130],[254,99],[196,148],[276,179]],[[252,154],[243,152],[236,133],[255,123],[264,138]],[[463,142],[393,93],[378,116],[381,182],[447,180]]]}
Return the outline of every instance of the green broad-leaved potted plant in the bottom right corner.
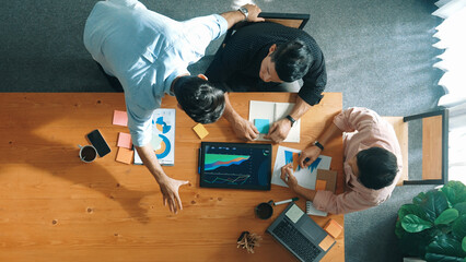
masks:
{"label": "green broad-leaved potted plant in the bottom right corner", "polygon": [[395,234],[405,257],[466,262],[466,186],[419,193],[399,209]]}

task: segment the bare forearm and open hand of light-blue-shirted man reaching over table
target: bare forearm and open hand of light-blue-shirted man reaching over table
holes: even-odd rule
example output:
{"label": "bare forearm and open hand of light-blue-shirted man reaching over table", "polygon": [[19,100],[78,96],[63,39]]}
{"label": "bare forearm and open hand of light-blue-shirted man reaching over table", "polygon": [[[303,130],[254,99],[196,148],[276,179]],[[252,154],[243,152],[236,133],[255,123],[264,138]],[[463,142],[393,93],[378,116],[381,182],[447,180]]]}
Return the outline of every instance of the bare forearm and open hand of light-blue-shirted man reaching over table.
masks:
{"label": "bare forearm and open hand of light-blue-shirted man reaching over table", "polygon": [[166,176],[162,169],[162,166],[159,164],[155,152],[153,151],[151,144],[135,147],[144,163],[144,166],[148,167],[149,171],[158,181],[160,191],[163,194],[163,204],[166,205],[168,203],[170,211],[175,214],[178,213],[178,210],[183,210],[178,189],[180,186],[187,184],[189,181],[176,180]]}

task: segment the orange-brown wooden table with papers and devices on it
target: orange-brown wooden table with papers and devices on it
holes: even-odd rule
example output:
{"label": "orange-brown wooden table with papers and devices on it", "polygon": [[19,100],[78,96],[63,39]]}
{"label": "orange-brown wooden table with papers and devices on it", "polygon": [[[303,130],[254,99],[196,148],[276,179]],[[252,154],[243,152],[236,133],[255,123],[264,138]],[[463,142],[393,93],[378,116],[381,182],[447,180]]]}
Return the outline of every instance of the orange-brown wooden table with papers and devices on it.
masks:
{"label": "orange-brown wooden table with papers and devices on it", "polygon": [[[293,102],[295,94],[236,93],[233,107],[245,118],[248,102]],[[326,93],[302,120],[302,150],[341,110],[341,94]],[[163,107],[176,108],[165,96]],[[0,261],[294,261],[265,233],[271,219],[255,217],[254,206],[292,196],[288,189],[270,191],[201,189],[197,174],[200,140],[195,122],[176,115],[175,166],[164,167],[174,178],[190,181],[180,188],[184,210],[177,215],[163,206],[158,183],[143,166],[115,162],[118,132],[115,109],[125,110],[118,93],[2,93],[0,94]],[[112,153],[92,164],[78,157],[78,144],[98,128]],[[205,141],[238,142],[222,119],[206,126]],[[273,146],[273,160],[277,146]],[[342,191],[342,142],[326,145],[338,170]],[[298,204],[304,209],[304,200]],[[343,225],[343,216],[331,215]],[[313,217],[323,226],[329,217]],[[236,249],[243,230],[264,237],[256,253]],[[324,261],[345,260],[345,236]]]}

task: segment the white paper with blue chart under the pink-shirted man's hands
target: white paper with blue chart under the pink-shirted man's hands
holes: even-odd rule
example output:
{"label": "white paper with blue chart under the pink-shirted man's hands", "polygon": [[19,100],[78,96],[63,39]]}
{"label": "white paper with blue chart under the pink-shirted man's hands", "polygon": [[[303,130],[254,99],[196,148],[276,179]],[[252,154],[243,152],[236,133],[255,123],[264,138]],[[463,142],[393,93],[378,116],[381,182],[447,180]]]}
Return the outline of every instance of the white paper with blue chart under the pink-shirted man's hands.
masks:
{"label": "white paper with blue chart under the pink-shirted man's hands", "polygon": [[[299,150],[278,146],[277,158],[275,159],[275,167],[271,183],[287,187],[287,183],[281,180],[281,167],[287,165],[288,163],[293,163],[293,153],[301,153]],[[293,166],[294,172],[293,175],[296,177],[298,183],[301,187],[307,189],[315,189],[315,180],[317,178],[317,169],[326,169],[330,168],[331,157],[319,155],[317,159],[312,163],[306,168],[301,168],[300,166]]]}

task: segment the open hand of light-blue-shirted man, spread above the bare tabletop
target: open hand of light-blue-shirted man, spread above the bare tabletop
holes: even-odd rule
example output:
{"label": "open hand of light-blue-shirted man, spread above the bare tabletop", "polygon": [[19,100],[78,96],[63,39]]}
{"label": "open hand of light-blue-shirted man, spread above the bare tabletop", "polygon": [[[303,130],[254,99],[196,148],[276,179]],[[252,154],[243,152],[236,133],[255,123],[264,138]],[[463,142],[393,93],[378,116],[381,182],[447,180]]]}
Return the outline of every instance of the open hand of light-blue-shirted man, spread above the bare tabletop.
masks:
{"label": "open hand of light-blue-shirted man, spread above the bare tabletop", "polygon": [[177,214],[178,210],[183,210],[182,200],[179,199],[178,189],[189,181],[176,180],[171,177],[165,177],[159,182],[160,191],[163,195],[163,205],[168,203],[170,211]]}

